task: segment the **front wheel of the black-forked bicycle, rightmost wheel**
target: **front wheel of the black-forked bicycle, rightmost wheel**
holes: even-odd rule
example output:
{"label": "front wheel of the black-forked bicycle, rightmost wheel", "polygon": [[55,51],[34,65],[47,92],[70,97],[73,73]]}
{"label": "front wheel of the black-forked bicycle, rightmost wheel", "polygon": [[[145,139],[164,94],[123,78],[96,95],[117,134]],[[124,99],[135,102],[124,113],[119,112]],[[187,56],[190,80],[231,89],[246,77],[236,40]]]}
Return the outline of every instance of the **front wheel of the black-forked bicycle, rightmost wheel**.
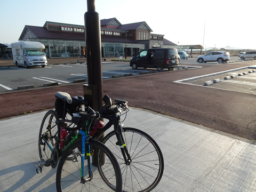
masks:
{"label": "front wheel of the black-forked bicycle, rightmost wheel", "polygon": [[123,178],[123,191],[151,191],[159,183],[164,171],[164,158],[156,141],[147,133],[125,127],[122,135],[131,156],[131,164],[124,162],[121,149],[116,145],[115,131],[103,138],[104,143],[115,155]]}

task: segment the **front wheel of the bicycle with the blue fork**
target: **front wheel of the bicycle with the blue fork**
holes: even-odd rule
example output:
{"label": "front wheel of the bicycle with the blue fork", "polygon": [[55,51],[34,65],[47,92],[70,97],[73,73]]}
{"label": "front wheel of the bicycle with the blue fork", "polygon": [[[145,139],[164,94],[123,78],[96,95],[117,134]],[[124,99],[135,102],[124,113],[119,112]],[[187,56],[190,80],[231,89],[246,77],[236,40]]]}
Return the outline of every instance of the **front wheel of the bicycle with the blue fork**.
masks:
{"label": "front wheel of the bicycle with the blue fork", "polygon": [[[92,165],[92,180],[87,181],[84,184],[81,183],[81,161],[66,161],[67,158],[74,156],[74,154],[78,154],[78,159],[81,158],[81,153],[79,151],[82,149],[82,142],[75,142],[65,151],[65,153],[63,153],[60,159],[56,174],[57,191],[113,191],[113,188],[110,188],[110,185],[114,185],[111,187],[114,187],[116,191],[122,191],[122,176],[115,156],[101,142],[95,140],[90,140],[89,142],[90,148],[98,148],[98,154],[94,154],[97,158],[98,166]],[[73,154],[73,151],[76,152]],[[105,154],[104,164],[101,163],[101,152]],[[87,178],[88,174],[86,167],[87,159],[84,161],[84,178]],[[99,170],[101,173],[99,173]],[[104,172],[104,178],[102,178],[102,172]]]}

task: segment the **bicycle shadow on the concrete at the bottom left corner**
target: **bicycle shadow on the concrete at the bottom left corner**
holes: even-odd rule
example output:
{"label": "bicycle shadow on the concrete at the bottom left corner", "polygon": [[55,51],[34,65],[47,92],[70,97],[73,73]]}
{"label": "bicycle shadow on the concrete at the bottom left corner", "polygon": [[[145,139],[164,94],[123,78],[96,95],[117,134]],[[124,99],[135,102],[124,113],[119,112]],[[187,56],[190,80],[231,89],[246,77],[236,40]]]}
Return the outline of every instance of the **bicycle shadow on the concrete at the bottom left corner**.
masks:
{"label": "bicycle shadow on the concrete at the bottom left corner", "polygon": [[[4,191],[56,191],[55,173],[57,169],[43,167],[36,173],[36,163],[30,162],[0,170],[0,188]],[[29,187],[28,187],[29,186]]]}

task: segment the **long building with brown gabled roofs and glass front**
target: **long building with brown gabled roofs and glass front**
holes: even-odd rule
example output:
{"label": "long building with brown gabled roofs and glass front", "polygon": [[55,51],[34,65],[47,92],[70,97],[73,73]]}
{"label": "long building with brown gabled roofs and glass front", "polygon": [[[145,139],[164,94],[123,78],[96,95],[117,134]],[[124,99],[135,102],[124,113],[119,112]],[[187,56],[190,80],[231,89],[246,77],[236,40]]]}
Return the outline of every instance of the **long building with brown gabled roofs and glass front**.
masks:
{"label": "long building with brown gabled roofs and glass front", "polygon": [[[151,47],[177,47],[152,34],[145,21],[122,25],[116,18],[100,20],[102,57],[133,56]],[[43,27],[25,26],[19,41],[37,41],[45,45],[47,57],[85,57],[85,29],[81,25],[46,21]],[[126,49],[125,49],[126,48]]]}

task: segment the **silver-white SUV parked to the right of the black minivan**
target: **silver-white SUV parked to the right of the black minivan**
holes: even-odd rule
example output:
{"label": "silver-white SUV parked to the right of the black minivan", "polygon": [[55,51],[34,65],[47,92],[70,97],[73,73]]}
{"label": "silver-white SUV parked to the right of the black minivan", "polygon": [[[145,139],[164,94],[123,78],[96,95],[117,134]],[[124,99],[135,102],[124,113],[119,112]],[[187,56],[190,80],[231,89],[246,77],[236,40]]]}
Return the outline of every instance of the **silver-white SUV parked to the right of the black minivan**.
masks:
{"label": "silver-white SUV parked to the right of the black minivan", "polygon": [[230,54],[226,51],[212,51],[206,53],[205,55],[199,55],[196,58],[196,61],[199,63],[209,62],[209,61],[218,61],[218,63],[227,62],[230,60]]}

